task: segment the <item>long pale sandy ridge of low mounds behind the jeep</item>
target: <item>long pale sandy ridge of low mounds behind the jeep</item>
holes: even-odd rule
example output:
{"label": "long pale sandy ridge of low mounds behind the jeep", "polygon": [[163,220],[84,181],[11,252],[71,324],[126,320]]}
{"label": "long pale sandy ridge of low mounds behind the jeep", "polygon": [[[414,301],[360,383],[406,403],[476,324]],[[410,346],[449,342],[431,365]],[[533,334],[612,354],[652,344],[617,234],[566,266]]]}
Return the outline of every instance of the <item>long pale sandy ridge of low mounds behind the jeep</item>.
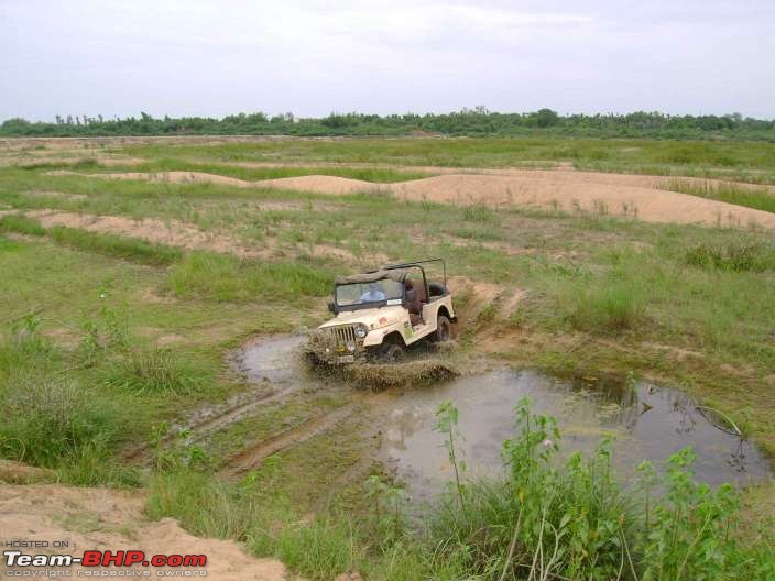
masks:
{"label": "long pale sandy ridge of low mounds behind the jeep", "polygon": [[[448,173],[395,184],[373,184],[336,176],[303,176],[260,182],[198,172],[159,174],[83,174],[114,179],[209,182],[238,187],[276,187],[318,194],[392,193],[399,199],[490,207],[522,206],[570,212],[629,216],[650,222],[775,228],[775,215],[732,204],[668,191],[675,178],[576,171],[482,169]],[[680,178],[687,182],[713,180]],[[716,183],[720,183],[716,180]],[[736,184],[735,184],[736,185]],[[742,186],[747,187],[747,186]],[[757,186],[752,186],[757,187]],[[775,195],[775,188],[769,188]]]}

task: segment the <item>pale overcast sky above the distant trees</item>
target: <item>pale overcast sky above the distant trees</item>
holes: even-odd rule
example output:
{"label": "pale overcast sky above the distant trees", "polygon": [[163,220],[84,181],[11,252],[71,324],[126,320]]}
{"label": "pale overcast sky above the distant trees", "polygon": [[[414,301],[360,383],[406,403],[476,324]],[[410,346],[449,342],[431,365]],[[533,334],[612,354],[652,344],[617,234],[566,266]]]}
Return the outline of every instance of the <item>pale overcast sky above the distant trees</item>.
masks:
{"label": "pale overcast sky above the distant trees", "polygon": [[0,0],[0,119],[775,118],[775,0]]}

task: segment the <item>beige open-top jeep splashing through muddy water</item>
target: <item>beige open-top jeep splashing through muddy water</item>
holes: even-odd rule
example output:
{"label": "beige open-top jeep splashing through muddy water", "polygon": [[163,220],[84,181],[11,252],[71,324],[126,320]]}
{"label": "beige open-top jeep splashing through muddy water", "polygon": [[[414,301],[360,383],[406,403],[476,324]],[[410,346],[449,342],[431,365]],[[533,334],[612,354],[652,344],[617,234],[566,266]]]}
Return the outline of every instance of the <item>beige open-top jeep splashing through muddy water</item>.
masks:
{"label": "beige open-top jeep splashing through muddy water", "polygon": [[[429,263],[440,265],[443,282],[428,282]],[[423,339],[449,341],[457,320],[441,259],[337,278],[328,309],[335,317],[313,331],[307,351],[315,362],[332,365],[399,361]]]}

